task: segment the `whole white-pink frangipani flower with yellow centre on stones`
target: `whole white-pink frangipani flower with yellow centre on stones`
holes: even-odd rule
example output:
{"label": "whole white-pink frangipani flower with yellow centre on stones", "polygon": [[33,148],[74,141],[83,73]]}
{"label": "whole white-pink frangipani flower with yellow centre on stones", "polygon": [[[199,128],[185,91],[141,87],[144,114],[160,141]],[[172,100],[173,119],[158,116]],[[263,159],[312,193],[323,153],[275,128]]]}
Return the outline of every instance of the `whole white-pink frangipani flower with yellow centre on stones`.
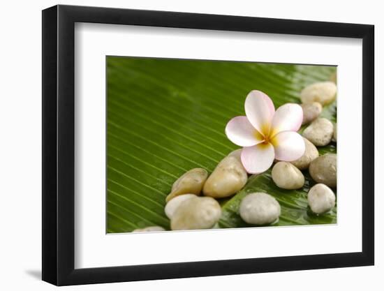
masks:
{"label": "whole white-pink frangipani flower with yellow centre on stones", "polygon": [[272,100],[253,90],[245,100],[246,116],[234,117],[226,126],[226,135],[242,149],[242,164],[250,174],[269,169],[274,159],[295,161],[305,151],[302,136],[296,131],[302,125],[300,105],[286,103],[276,112]]}

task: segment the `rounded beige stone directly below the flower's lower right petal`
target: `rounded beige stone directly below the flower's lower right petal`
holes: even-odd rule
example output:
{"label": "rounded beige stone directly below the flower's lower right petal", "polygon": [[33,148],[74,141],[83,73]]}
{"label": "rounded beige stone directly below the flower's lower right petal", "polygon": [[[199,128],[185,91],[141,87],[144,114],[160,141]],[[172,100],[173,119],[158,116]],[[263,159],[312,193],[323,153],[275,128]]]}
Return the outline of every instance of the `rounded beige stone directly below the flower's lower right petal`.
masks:
{"label": "rounded beige stone directly below the flower's lower right petal", "polygon": [[304,186],[304,175],[288,162],[279,162],[272,168],[272,180],[279,188],[293,190]]}

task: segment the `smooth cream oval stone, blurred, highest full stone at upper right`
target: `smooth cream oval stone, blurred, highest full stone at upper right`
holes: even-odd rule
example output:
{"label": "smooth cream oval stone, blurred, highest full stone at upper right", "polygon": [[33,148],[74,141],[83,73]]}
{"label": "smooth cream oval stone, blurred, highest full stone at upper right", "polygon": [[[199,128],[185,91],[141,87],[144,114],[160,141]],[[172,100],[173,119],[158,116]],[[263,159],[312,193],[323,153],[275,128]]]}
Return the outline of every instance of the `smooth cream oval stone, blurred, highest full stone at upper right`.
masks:
{"label": "smooth cream oval stone, blurred, highest full stone at upper right", "polygon": [[317,82],[313,83],[302,90],[302,103],[318,102],[321,105],[332,103],[336,98],[337,87],[334,82]]}

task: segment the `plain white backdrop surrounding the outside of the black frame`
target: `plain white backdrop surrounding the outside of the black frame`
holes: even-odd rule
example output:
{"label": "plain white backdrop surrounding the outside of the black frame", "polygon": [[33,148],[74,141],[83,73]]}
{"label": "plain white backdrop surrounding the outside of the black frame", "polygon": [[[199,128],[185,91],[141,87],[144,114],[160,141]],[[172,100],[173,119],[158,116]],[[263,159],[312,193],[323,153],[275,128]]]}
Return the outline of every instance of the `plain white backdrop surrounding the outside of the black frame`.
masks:
{"label": "plain white backdrop surrounding the outside of the black frame", "polygon": [[[54,1],[7,1],[1,7],[1,103],[0,103],[0,177],[1,240],[0,286],[3,290],[52,290],[40,282],[40,192],[41,192],[41,18],[40,10]],[[380,1],[61,1],[61,3],[179,10],[279,17],[303,20],[359,22],[376,25],[376,149],[384,147],[384,123],[378,108],[384,106],[383,75],[384,19]],[[353,157],[351,157],[353,158]],[[376,151],[376,181],[384,174],[383,154]],[[378,181],[379,182],[379,181]],[[271,274],[189,278],[166,281],[118,283],[70,287],[66,290],[196,290],[220,288],[268,288],[276,290],[382,290],[384,255],[383,186],[376,184],[376,266],[348,269],[295,271]],[[381,207],[382,208],[382,207]],[[236,247],[236,246],[234,246]],[[272,285],[271,285],[272,284]]]}

